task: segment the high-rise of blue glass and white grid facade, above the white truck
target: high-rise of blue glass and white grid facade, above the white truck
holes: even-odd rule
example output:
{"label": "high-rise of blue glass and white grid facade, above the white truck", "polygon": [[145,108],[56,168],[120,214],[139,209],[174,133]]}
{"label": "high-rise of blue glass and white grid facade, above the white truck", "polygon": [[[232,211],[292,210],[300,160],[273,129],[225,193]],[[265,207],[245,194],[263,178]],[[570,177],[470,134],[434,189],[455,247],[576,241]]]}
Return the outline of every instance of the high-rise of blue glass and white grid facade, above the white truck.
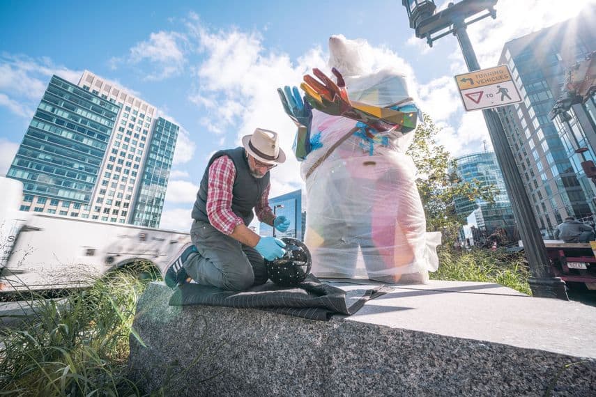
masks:
{"label": "high-rise of blue glass and white grid facade, above the white truck", "polygon": [[6,176],[21,210],[158,227],[178,128],[89,71],[53,76]]}

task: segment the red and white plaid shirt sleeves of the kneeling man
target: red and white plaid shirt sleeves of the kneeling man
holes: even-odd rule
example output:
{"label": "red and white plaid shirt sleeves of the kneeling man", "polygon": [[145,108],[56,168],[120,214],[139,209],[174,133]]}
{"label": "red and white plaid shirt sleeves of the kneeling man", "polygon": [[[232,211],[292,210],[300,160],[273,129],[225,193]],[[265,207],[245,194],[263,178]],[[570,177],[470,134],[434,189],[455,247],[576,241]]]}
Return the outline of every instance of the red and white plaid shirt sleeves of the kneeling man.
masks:
{"label": "red and white plaid shirt sleeves of the kneeling man", "polygon": [[[236,167],[227,156],[218,157],[209,166],[207,189],[207,216],[209,222],[218,231],[230,235],[236,226],[244,221],[231,210],[232,188],[236,179]],[[269,189],[267,185],[261,199],[254,206],[257,219],[273,226],[273,210],[269,206]]]}

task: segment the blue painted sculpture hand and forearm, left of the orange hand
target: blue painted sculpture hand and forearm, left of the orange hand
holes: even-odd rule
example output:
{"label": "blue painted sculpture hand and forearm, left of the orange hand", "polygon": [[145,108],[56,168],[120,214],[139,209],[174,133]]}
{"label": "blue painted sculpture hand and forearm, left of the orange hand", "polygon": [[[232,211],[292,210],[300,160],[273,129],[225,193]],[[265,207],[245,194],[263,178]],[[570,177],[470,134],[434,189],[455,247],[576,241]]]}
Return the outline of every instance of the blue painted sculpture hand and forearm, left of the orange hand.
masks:
{"label": "blue painted sculpture hand and forearm, left of the orange hand", "polygon": [[300,97],[298,87],[293,87],[292,90],[290,90],[289,86],[285,86],[283,90],[282,88],[277,88],[277,94],[280,95],[284,111],[286,111],[286,114],[290,116],[296,127],[298,127],[296,141],[294,142],[294,154],[298,160],[303,160],[312,150],[310,145],[312,107],[310,107],[310,104],[306,100]]}

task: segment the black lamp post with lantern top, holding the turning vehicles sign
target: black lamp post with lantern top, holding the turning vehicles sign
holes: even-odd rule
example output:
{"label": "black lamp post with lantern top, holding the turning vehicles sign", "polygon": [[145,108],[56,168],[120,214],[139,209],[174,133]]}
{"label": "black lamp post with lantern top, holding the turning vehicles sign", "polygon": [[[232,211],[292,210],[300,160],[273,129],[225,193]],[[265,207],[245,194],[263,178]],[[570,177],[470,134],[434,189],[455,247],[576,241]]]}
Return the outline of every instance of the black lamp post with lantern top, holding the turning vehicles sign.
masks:
{"label": "black lamp post with lantern top, holding the turning vehicles sign", "polygon": [[[464,54],[468,70],[473,72],[480,70],[480,65],[466,27],[486,17],[496,18],[494,6],[497,1],[461,0],[457,4],[449,3],[448,7],[440,13],[436,13],[436,4],[433,0],[402,0],[402,5],[406,7],[410,27],[414,29],[416,37],[426,38],[430,47],[434,40],[453,33]],[[478,14],[481,15],[477,16]],[[498,164],[503,171],[513,215],[519,225],[521,241],[524,242],[526,258],[530,265],[528,283],[532,293],[536,297],[556,297],[567,300],[565,281],[555,277],[551,269],[547,249],[544,247],[544,240],[538,229],[524,182],[519,176],[513,153],[505,138],[501,119],[494,109],[484,109],[482,114],[487,123]]]}

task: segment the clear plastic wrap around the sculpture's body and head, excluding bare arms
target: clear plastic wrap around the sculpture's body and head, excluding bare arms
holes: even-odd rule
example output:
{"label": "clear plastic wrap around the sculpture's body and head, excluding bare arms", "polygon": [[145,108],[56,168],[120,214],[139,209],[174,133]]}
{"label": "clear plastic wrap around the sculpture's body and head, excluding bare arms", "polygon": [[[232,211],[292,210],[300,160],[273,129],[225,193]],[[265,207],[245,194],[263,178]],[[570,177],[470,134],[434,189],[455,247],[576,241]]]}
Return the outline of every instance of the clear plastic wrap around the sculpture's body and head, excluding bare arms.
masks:
{"label": "clear plastic wrap around the sculpture's body and head, excluding bare arms", "polygon": [[[338,45],[337,40],[343,41]],[[342,73],[351,65],[346,56],[362,61],[349,42],[330,40],[330,63],[343,67]],[[377,107],[413,104],[404,75],[395,70],[344,77],[350,100]],[[318,277],[425,282],[438,267],[441,233],[426,231],[415,165],[405,153],[415,132],[371,135],[358,127],[355,120],[313,110],[312,151],[300,164],[312,272]]]}

